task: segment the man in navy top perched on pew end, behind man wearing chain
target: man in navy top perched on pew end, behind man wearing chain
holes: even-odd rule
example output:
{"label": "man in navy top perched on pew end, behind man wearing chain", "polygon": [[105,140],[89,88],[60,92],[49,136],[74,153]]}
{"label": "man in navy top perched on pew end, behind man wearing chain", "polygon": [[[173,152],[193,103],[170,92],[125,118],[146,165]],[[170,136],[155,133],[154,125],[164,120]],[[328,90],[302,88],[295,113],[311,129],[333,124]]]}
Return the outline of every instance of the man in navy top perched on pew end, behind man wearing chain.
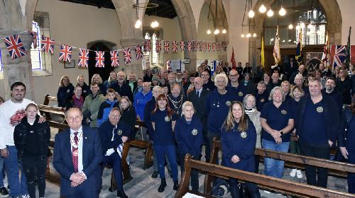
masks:
{"label": "man in navy top perched on pew end, behind man wearing chain", "polygon": [[121,110],[114,107],[109,112],[109,120],[102,123],[98,129],[102,143],[102,155],[104,156],[103,166],[112,165],[114,169],[114,179],[117,183],[117,197],[126,198],[122,179],[121,153],[124,143],[131,136],[131,127],[119,122]]}

